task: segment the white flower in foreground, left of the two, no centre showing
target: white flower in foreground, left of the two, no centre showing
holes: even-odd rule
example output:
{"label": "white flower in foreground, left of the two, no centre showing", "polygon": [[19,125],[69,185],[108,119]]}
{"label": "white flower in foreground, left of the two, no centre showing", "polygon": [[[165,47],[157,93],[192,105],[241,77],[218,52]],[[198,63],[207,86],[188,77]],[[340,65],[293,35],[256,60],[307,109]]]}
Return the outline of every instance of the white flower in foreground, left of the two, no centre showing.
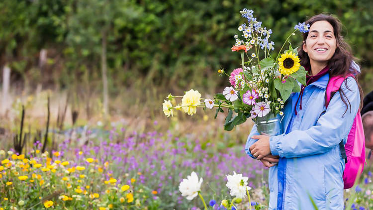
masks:
{"label": "white flower in foreground, left of the two, no centre showing", "polygon": [[198,191],[201,190],[202,181],[203,179],[201,178],[198,182],[197,174],[193,171],[190,176],[187,176],[187,179],[183,179],[180,183],[179,191],[182,196],[187,197],[187,200],[193,200],[198,195]]}

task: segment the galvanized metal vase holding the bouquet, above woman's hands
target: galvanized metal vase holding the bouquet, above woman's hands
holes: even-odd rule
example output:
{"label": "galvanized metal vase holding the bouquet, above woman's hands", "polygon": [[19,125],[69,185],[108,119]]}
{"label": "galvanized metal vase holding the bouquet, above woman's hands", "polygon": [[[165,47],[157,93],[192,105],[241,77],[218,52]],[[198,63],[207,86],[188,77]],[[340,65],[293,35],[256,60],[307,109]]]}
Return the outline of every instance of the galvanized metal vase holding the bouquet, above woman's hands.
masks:
{"label": "galvanized metal vase holding the bouquet, above woman's hands", "polygon": [[[253,119],[254,120],[254,119]],[[258,132],[261,135],[276,136],[282,134],[280,116],[267,120],[267,117],[256,117],[254,123],[257,125]]]}

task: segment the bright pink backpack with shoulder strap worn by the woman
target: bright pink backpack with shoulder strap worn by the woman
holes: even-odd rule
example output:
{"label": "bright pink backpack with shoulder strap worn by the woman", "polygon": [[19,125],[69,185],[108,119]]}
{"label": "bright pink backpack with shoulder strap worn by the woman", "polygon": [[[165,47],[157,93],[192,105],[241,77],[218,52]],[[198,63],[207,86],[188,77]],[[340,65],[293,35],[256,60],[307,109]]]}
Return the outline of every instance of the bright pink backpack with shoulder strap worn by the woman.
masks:
{"label": "bright pink backpack with shoulder strap worn by the woman", "polygon": [[[335,93],[339,90],[347,77],[354,76],[350,74],[346,77],[336,76],[329,79],[326,87],[326,107],[328,107],[331,97],[333,97],[333,92]],[[341,141],[339,147],[342,158],[346,162],[346,168],[343,172],[344,189],[348,189],[354,186],[358,173],[361,174],[363,172],[365,163],[365,136],[360,109],[355,116],[354,123],[347,137],[347,143],[344,144]]]}

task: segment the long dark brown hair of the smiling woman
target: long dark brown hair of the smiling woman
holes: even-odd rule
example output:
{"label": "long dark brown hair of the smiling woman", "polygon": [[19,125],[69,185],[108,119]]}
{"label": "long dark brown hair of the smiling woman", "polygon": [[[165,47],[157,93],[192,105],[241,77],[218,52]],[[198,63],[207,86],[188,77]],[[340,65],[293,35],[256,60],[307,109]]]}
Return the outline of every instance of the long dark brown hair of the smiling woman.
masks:
{"label": "long dark brown hair of the smiling woman", "polygon": [[[333,77],[333,76],[346,77],[350,73],[353,73],[355,75],[358,74],[359,73],[358,69],[356,69],[358,64],[355,63],[357,59],[352,55],[350,45],[344,40],[342,36],[342,23],[337,17],[331,14],[325,14],[325,13],[317,14],[309,18],[306,21],[306,25],[309,24],[311,26],[313,23],[317,21],[322,21],[322,20],[326,20],[332,25],[333,30],[334,30],[334,36],[337,41],[337,48],[334,52],[334,55],[328,61],[328,66],[330,69],[329,70],[330,77]],[[308,32],[303,33],[302,45],[306,43],[307,36],[308,36]],[[307,67],[308,69],[311,69],[311,64],[309,61],[308,54],[304,52],[302,47],[298,48],[298,56],[300,59],[300,64],[303,67]],[[353,65],[353,63],[355,63],[355,65]],[[358,79],[356,77],[354,77],[354,79],[358,83]],[[345,80],[345,85],[347,89],[349,89],[349,87],[347,86],[347,80]],[[361,106],[363,105],[364,95],[363,95],[363,90],[360,87],[359,83],[358,83],[358,87],[359,87],[359,92],[360,92],[360,99],[361,99],[360,108],[361,108]],[[348,107],[349,107],[348,104],[349,104],[350,112],[351,112],[351,104],[350,104],[350,101],[347,99],[345,93],[342,91],[342,89],[339,89],[339,93],[341,94],[341,99],[343,103],[346,105],[346,111],[348,110]]]}

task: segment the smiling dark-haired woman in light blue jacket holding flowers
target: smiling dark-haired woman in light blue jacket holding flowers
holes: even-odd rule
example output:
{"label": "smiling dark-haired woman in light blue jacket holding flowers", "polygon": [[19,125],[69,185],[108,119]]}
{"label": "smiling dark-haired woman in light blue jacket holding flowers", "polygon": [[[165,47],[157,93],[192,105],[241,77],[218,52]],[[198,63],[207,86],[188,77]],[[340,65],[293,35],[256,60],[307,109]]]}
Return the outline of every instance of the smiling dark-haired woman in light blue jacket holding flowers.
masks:
{"label": "smiling dark-haired woman in light blue jacket holding flowers", "polygon": [[[249,156],[270,168],[270,210],[344,208],[341,152],[360,114],[362,91],[352,76],[360,69],[336,17],[318,14],[304,25],[308,24],[298,56],[309,75],[306,86],[292,93],[284,105],[285,133],[259,135],[254,125],[245,146]],[[284,69],[295,63],[290,55],[279,62]],[[344,83],[326,105],[326,87],[336,77]]]}

